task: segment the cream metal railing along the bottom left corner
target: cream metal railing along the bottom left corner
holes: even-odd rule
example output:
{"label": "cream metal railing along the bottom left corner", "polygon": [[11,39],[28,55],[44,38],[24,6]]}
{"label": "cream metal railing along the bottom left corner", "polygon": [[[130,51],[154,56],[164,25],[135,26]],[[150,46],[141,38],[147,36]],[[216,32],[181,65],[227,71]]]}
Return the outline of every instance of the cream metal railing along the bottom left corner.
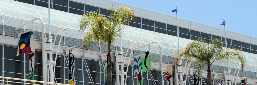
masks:
{"label": "cream metal railing along the bottom left corner", "polygon": [[[28,80],[28,79],[21,79],[21,78],[11,78],[11,77],[3,77],[0,81],[1,85],[14,85],[13,83],[18,84],[30,84],[28,82],[34,82],[34,83],[42,83],[42,84],[30,84],[30,85],[43,85],[43,84],[53,84],[53,85],[70,85],[70,84],[60,84],[60,83],[53,83],[53,82],[44,82],[44,81],[37,81],[37,80]],[[21,82],[18,82],[21,81]]]}

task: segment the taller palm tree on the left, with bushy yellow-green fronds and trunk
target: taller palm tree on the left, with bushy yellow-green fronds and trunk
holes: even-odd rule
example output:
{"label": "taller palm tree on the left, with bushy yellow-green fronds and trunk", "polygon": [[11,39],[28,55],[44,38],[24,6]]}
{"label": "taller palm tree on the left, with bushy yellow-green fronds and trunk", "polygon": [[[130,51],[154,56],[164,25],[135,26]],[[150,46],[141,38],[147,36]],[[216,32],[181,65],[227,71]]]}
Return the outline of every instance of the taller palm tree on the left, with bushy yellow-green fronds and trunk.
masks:
{"label": "taller palm tree on the left, with bushy yellow-green fronds and trunk", "polygon": [[107,84],[112,85],[111,45],[116,41],[128,21],[134,21],[134,11],[128,7],[121,7],[113,11],[109,18],[97,12],[82,15],[79,22],[80,30],[89,29],[83,39],[83,49],[88,49],[92,43],[100,42],[108,45],[107,54]]}

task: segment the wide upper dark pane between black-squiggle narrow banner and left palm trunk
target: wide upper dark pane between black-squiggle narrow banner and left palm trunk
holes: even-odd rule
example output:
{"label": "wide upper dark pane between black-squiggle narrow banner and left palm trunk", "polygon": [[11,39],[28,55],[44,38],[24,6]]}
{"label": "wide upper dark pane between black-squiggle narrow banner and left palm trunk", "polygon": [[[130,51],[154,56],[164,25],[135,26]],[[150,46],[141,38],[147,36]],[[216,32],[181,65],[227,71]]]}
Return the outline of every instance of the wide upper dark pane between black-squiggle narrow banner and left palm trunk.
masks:
{"label": "wide upper dark pane between black-squiggle narrow banner and left palm trunk", "polygon": [[[86,62],[87,62],[87,66],[89,68],[89,71],[97,71],[97,72],[99,72],[99,70],[100,70],[99,69],[99,61],[94,61],[94,60],[86,59]],[[83,65],[83,66],[84,66],[84,70],[85,70],[86,67],[85,67],[85,65]]]}

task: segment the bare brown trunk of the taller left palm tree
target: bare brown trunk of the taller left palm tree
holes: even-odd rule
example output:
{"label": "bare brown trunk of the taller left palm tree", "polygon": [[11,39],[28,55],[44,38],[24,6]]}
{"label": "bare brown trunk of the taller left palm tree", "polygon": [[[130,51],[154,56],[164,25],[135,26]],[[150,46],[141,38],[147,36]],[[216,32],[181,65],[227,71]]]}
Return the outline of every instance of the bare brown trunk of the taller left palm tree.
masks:
{"label": "bare brown trunk of the taller left palm tree", "polygon": [[108,43],[107,54],[107,85],[113,85],[112,78],[112,57],[111,57],[111,43]]}

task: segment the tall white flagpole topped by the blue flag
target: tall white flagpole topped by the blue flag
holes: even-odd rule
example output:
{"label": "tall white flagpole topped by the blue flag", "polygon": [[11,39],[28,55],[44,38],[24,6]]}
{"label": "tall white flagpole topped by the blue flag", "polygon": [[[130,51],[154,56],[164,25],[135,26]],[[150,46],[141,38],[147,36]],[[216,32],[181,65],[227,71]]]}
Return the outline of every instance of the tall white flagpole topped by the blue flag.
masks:
{"label": "tall white flagpole topped by the blue flag", "polygon": [[[175,10],[177,9],[177,6],[175,8]],[[177,37],[178,37],[178,51],[179,51],[179,29],[178,29],[178,14],[177,14],[177,11],[176,11],[176,21],[177,21]],[[178,61],[178,65],[181,65],[181,60]],[[178,72],[178,69],[180,69],[181,71],[181,68],[177,68],[177,72]],[[182,75],[180,75],[180,78],[182,78]],[[181,79],[180,79],[181,80]],[[175,80],[175,84],[178,85],[178,73],[176,73],[176,80]]]}

